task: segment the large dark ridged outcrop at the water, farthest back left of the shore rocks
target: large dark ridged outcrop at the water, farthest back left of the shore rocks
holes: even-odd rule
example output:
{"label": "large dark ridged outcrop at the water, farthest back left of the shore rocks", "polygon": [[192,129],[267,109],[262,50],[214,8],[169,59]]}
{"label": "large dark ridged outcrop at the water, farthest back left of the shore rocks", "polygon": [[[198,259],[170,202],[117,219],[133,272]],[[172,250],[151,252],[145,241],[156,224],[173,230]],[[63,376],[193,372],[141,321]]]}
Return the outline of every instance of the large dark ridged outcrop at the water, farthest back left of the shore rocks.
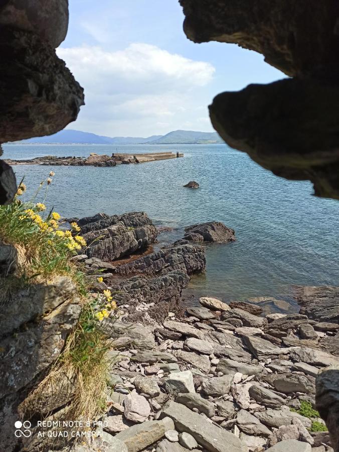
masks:
{"label": "large dark ridged outcrop at the water, farthest back left of the shore rocks", "polygon": [[[103,217],[100,214],[79,220],[87,241],[88,257],[112,261],[146,248],[156,241],[157,229],[144,212]],[[92,219],[92,220],[91,220]]]}

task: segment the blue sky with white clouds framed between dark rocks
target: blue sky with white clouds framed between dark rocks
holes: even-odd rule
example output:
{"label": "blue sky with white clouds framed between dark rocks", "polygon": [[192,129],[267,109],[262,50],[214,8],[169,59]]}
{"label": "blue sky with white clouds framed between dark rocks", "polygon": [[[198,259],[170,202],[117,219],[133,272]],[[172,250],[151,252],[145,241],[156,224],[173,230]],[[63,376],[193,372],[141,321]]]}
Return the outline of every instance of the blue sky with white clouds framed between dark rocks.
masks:
{"label": "blue sky with white clouds framed between dark rocks", "polygon": [[177,0],[70,0],[69,9],[57,54],[86,104],[68,129],[109,137],[212,132],[216,94],[284,77],[235,44],[189,41]]}

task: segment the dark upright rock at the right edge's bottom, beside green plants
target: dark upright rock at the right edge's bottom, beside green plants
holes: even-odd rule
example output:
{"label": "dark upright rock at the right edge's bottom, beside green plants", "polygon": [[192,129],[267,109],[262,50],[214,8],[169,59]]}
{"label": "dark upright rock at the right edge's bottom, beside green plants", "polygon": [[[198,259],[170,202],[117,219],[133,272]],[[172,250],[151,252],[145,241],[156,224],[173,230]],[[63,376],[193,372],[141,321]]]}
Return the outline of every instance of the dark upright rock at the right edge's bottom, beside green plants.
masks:
{"label": "dark upright rock at the right edge's bottom, beside green plants", "polygon": [[339,365],[322,369],[316,377],[316,409],[331,437],[334,450],[339,449]]}

